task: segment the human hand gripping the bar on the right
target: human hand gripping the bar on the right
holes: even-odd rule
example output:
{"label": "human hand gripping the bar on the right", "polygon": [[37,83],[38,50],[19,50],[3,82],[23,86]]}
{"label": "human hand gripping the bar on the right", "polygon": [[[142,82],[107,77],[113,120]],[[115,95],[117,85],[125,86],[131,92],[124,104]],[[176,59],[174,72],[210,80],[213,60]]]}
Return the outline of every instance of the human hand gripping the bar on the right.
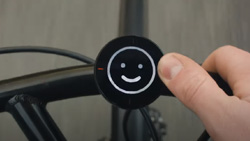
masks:
{"label": "human hand gripping the bar on the right", "polygon": [[[228,96],[207,73],[231,87]],[[158,73],[169,90],[203,122],[213,140],[250,140],[250,54],[232,46],[215,50],[202,67],[177,53],[163,56]]]}

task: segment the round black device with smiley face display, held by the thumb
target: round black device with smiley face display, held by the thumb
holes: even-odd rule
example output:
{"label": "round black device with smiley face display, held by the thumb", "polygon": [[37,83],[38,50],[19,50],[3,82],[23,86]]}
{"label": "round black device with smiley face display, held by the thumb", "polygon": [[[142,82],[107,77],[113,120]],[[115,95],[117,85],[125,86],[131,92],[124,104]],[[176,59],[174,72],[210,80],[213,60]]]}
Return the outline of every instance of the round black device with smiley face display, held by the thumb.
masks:
{"label": "round black device with smiley face display, held by the thumb", "polygon": [[163,88],[157,73],[161,50],[152,41],[125,36],[110,41],[99,53],[95,80],[102,95],[123,109],[149,105]]}

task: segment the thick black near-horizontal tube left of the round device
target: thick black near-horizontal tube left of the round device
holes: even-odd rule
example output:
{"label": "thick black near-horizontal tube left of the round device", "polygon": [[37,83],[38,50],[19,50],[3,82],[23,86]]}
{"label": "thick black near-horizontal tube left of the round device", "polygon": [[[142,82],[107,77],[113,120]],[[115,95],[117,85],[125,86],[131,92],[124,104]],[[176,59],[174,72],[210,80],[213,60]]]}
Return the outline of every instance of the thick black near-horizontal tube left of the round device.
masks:
{"label": "thick black near-horizontal tube left of the round device", "polygon": [[0,112],[15,95],[26,94],[44,102],[97,95],[93,66],[77,66],[26,75],[0,82]]}

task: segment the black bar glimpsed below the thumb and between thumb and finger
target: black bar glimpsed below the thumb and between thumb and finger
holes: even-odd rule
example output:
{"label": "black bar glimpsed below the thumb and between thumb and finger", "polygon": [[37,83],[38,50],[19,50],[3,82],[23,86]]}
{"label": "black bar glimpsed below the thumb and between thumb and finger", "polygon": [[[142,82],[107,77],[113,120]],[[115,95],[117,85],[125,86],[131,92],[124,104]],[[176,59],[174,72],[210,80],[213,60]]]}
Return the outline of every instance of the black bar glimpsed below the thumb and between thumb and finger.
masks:
{"label": "black bar glimpsed below the thumb and between thumb and finger", "polygon": [[[217,85],[229,96],[232,96],[233,95],[233,91],[232,89],[230,88],[230,86],[227,84],[226,81],[224,81],[221,76],[218,74],[218,73],[214,73],[214,72],[208,72],[208,74],[215,80],[215,82],[217,83]],[[162,93],[161,95],[163,96],[173,96],[175,97],[172,92],[167,88],[165,87],[163,90],[162,90]]]}

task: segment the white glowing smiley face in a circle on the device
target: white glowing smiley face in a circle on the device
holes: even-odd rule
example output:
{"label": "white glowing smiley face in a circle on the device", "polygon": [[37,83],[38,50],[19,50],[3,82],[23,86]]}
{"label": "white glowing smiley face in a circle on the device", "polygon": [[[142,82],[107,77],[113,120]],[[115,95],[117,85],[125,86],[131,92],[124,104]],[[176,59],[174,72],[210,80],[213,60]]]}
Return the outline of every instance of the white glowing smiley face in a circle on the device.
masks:
{"label": "white glowing smiley face in a circle on the device", "polygon": [[[132,58],[127,57],[131,54],[139,54],[138,56],[141,57],[136,55]],[[125,62],[122,62],[124,60]],[[120,92],[138,94],[153,83],[156,68],[152,57],[145,50],[128,46],[111,56],[107,66],[107,75],[111,84]]]}

